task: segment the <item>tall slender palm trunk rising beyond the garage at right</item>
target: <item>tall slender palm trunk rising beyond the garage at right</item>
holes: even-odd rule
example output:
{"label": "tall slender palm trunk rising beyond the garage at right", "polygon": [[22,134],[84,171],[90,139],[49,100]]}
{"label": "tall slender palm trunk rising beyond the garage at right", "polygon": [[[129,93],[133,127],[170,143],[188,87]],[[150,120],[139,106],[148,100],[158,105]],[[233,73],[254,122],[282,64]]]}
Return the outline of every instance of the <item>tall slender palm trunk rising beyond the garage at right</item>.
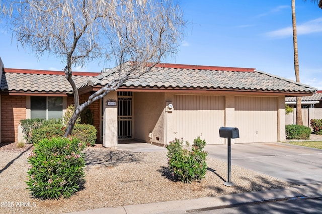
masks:
{"label": "tall slender palm trunk rising beyond the garage at right", "polygon": [[[297,50],[297,32],[296,32],[296,16],[295,16],[295,0],[292,0],[292,24],[293,24],[293,46],[294,46],[294,70],[296,81],[300,81],[298,50]],[[296,97],[296,124],[303,125],[301,97]]]}

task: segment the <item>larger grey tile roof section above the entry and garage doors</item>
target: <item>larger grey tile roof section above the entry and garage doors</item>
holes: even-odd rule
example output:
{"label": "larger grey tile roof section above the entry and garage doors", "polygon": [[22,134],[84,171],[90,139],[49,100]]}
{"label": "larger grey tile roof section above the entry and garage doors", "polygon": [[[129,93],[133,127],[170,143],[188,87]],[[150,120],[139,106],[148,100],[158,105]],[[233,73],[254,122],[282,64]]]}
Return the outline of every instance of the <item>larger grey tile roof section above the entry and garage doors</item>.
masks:
{"label": "larger grey tile roof section above the entry and garage doors", "polygon": [[[169,66],[168,66],[169,65]],[[198,69],[199,68],[199,69]],[[105,86],[116,75],[113,68],[90,79],[83,85]],[[162,64],[138,79],[127,80],[122,87],[232,89],[251,91],[306,92],[317,89],[269,73],[248,68],[211,67]]]}

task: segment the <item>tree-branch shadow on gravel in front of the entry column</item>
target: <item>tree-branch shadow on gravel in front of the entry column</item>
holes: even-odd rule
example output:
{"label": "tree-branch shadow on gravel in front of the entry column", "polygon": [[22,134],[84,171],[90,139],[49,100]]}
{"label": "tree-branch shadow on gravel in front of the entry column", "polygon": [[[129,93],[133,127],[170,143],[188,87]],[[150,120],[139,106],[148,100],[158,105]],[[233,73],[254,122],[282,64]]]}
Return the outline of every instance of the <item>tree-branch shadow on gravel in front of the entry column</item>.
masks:
{"label": "tree-branch shadow on gravel in front of the entry column", "polygon": [[85,153],[86,165],[116,166],[122,163],[140,163],[142,158],[139,154],[127,151],[100,151],[88,150]]}

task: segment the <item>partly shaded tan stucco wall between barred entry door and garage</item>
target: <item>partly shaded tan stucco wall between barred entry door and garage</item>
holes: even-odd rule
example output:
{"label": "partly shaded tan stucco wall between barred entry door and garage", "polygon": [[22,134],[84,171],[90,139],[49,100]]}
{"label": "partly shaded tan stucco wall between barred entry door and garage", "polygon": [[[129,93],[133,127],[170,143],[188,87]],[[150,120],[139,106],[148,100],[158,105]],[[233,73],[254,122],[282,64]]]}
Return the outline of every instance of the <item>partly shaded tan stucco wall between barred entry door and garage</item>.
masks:
{"label": "partly shaded tan stucco wall between barred entry door and garage", "polygon": [[152,132],[152,142],[164,144],[165,93],[135,92],[133,94],[133,100],[133,137],[144,142],[150,142],[148,135]]}

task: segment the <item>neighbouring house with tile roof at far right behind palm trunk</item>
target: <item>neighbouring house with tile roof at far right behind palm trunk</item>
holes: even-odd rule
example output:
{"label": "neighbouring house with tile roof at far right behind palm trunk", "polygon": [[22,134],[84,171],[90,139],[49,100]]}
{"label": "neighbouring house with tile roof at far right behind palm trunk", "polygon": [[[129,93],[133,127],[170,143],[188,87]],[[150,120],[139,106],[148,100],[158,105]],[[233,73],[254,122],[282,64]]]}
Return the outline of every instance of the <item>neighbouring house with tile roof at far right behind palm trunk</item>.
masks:
{"label": "neighbouring house with tile roof at far right behind palm trunk", "polygon": [[[286,115],[285,124],[296,124],[296,96],[286,97],[285,103],[293,108],[293,112]],[[322,119],[322,90],[311,96],[301,97],[303,125],[310,127],[311,119]]]}

